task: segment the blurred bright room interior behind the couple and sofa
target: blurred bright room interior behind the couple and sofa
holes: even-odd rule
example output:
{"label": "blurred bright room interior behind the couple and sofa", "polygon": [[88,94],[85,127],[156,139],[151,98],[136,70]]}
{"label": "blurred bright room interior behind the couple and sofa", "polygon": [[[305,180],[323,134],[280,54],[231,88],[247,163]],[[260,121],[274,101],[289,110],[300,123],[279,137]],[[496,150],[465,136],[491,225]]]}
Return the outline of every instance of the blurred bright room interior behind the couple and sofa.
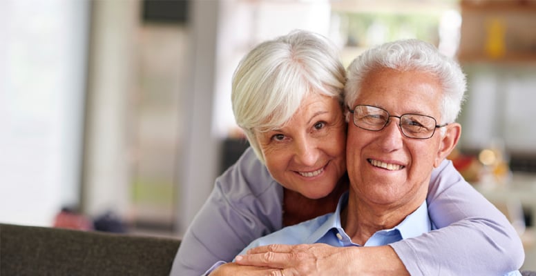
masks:
{"label": "blurred bright room interior behind the couple and sofa", "polygon": [[450,158],[535,269],[534,26],[535,0],[2,0],[0,221],[180,237],[247,148],[230,88],[248,50],[314,30],[347,65],[412,37],[463,66]]}

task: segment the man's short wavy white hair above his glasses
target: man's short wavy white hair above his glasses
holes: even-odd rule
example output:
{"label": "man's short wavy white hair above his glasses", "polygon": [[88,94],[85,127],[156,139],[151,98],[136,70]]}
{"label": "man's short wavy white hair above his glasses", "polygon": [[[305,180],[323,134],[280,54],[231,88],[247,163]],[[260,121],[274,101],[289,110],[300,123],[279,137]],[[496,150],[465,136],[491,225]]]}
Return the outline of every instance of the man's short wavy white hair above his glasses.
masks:
{"label": "man's short wavy white hair above his glasses", "polygon": [[[390,68],[399,71],[417,70],[436,76],[443,88],[441,122],[456,120],[465,99],[466,76],[459,64],[442,55],[432,44],[417,39],[403,39],[370,48],[348,66],[345,104],[353,108],[361,92],[361,83],[374,70]],[[346,119],[348,120],[348,112]]]}

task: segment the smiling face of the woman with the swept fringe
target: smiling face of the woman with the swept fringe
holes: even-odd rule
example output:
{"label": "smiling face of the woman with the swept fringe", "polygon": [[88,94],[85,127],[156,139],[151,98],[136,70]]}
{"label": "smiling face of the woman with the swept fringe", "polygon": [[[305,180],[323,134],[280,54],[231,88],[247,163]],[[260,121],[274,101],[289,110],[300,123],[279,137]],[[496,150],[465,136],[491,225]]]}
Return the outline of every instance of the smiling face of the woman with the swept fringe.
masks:
{"label": "smiling face of the woman with the swept fringe", "polygon": [[337,99],[312,93],[284,126],[257,132],[256,139],[279,184],[319,199],[346,172],[346,126]]}

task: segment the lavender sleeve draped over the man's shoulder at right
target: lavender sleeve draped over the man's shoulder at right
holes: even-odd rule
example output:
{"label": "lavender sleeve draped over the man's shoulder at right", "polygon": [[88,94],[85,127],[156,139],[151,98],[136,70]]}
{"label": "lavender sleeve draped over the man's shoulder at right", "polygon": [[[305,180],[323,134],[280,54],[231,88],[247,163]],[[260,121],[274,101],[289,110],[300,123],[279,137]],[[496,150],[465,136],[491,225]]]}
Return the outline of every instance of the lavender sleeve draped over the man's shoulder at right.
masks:
{"label": "lavender sleeve draped over the man's shoulder at right", "polygon": [[521,267],[519,235],[452,161],[433,171],[427,202],[439,229],[390,244],[410,275],[504,275]]}

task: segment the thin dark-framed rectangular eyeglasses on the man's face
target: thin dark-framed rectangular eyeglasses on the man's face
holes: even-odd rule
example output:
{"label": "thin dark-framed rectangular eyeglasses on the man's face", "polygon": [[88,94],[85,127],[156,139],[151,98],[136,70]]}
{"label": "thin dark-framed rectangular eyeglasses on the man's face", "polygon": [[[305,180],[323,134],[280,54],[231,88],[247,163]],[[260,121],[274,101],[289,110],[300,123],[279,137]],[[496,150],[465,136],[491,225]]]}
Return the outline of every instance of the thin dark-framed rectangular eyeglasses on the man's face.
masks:
{"label": "thin dark-framed rectangular eyeglasses on the man's face", "polygon": [[402,134],[408,138],[428,139],[434,136],[436,128],[443,128],[447,124],[438,125],[434,117],[420,114],[390,115],[387,110],[376,106],[358,105],[350,110],[354,117],[354,125],[364,130],[380,131],[389,124],[391,117],[399,118]]}

